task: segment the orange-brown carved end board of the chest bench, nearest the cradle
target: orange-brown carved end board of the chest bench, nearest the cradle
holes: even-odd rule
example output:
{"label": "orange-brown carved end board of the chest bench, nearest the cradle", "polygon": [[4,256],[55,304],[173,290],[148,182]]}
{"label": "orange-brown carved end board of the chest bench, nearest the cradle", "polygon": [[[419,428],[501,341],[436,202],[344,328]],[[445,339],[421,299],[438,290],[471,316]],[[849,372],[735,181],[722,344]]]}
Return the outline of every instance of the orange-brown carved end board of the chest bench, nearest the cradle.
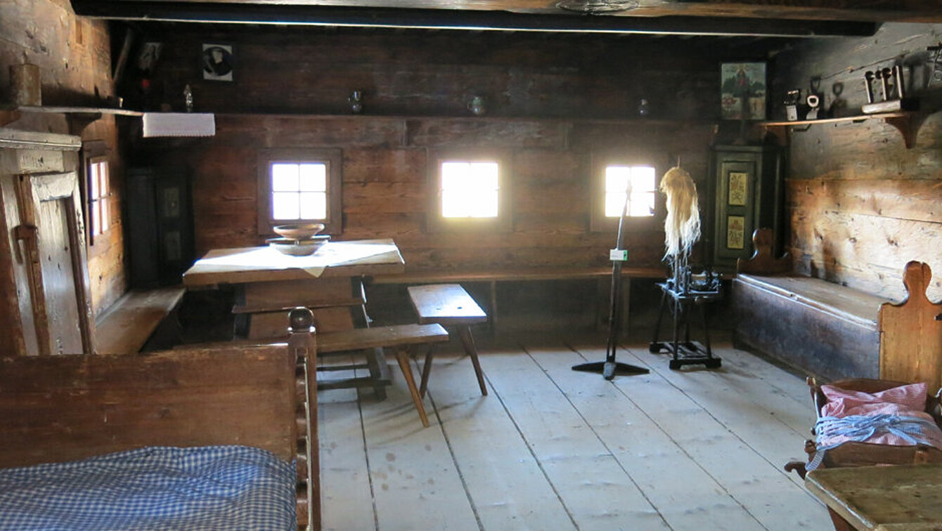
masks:
{"label": "orange-brown carved end board of the chest bench, nearest the cradle", "polygon": [[910,262],[902,271],[906,299],[880,306],[880,378],[942,386],[942,302],[926,297],[933,271]]}

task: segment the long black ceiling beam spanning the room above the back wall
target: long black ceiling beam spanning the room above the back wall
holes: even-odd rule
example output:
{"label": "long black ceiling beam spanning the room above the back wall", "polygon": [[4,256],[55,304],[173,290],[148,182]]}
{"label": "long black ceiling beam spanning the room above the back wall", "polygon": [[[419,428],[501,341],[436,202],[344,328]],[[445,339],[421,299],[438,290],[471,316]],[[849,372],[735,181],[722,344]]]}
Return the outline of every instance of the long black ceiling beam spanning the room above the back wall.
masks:
{"label": "long black ceiling beam spanning the room above the back wall", "polygon": [[[396,1],[396,0],[393,0]],[[529,1],[529,0],[524,0]],[[877,24],[858,21],[771,20],[731,17],[587,16],[506,11],[407,8],[336,8],[249,2],[161,0],[73,0],[79,15],[154,22],[306,24],[355,27],[716,35],[756,37],[870,36]]]}

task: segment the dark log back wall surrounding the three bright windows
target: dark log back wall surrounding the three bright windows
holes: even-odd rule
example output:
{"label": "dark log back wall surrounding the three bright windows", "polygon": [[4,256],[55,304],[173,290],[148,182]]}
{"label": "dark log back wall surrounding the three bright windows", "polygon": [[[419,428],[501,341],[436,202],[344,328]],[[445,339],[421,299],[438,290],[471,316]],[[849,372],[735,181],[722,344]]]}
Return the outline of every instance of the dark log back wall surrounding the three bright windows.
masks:
{"label": "dark log back wall surrounding the three bright windows", "polygon": [[[745,50],[737,40],[191,27],[169,31],[147,97],[179,110],[189,84],[195,110],[219,113],[217,135],[145,140],[140,160],[190,169],[197,254],[263,241],[258,150],[339,147],[342,237],[391,237],[410,270],[609,265],[613,232],[590,230],[593,155],[650,151],[661,171],[679,156],[706,190],[719,61]],[[202,80],[201,42],[214,41],[234,45],[231,83]],[[360,116],[349,116],[354,89]],[[471,116],[471,94],[484,95],[486,116]],[[638,120],[642,98],[650,120]],[[430,152],[467,147],[512,154],[512,231],[426,230]],[[662,217],[633,225],[627,247],[629,266],[658,265]]]}

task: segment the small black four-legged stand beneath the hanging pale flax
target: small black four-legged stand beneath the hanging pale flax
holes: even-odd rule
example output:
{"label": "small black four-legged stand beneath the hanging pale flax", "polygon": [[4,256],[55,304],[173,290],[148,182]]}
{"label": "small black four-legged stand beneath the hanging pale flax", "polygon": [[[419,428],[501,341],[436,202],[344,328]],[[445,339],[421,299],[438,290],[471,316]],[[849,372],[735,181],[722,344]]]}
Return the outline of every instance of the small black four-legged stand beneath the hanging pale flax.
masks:
{"label": "small black four-legged stand beneath the hanging pale flax", "polygon": [[[720,298],[720,292],[689,290],[684,293],[675,290],[673,282],[661,282],[658,286],[661,290],[660,310],[658,310],[658,321],[654,327],[654,338],[648,349],[655,354],[670,353],[673,358],[668,366],[674,370],[684,365],[698,363],[706,365],[708,369],[719,368],[723,361],[713,356],[713,350],[709,345],[707,312],[704,306],[707,302]],[[693,307],[699,309],[697,313],[700,314],[700,324],[703,327],[703,343],[690,340],[690,314]],[[660,323],[668,308],[674,317],[672,341],[658,341]],[[683,339],[680,338],[681,333],[683,333]]]}

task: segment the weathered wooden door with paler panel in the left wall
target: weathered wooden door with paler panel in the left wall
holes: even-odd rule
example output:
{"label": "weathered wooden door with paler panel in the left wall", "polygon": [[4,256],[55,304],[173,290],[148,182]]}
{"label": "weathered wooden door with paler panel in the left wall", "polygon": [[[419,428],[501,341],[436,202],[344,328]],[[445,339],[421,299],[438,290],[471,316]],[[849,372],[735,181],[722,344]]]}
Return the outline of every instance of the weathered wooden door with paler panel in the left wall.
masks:
{"label": "weathered wooden door with paler panel in the left wall", "polygon": [[24,240],[37,353],[91,353],[94,325],[77,174],[24,174],[18,188],[21,224],[15,231]]}

